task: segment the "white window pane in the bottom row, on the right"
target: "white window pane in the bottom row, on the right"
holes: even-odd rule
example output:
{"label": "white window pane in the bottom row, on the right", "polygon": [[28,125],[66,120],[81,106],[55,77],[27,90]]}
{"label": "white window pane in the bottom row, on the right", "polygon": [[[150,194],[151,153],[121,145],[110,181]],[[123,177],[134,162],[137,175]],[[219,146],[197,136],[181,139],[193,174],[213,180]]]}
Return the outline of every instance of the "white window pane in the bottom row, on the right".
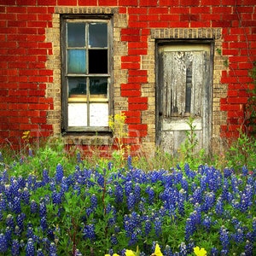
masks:
{"label": "white window pane in the bottom row, on the right", "polygon": [[108,103],[90,104],[90,126],[108,126]]}

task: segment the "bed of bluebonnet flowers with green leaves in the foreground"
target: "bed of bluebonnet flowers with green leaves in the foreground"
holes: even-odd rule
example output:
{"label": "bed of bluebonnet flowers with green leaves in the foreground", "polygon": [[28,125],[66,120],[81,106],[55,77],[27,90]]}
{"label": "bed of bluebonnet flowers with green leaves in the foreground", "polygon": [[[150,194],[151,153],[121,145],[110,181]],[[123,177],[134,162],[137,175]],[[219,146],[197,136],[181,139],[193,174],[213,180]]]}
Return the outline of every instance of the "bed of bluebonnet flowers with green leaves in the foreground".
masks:
{"label": "bed of bluebonnet flowers with green leaves in the foreground", "polygon": [[[131,166],[55,167],[49,176],[0,173],[2,255],[253,255],[256,174],[188,165],[144,172]],[[71,173],[66,175],[66,173]]]}

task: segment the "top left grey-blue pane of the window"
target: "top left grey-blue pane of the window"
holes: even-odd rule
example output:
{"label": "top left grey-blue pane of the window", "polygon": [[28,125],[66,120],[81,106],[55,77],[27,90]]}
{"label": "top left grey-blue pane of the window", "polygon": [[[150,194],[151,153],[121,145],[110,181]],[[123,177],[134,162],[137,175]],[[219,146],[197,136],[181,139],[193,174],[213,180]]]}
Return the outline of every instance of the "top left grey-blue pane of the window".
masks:
{"label": "top left grey-blue pane of the window", "polygon": [[85,24],[67,23],[67,46],[84,47],[85,45]]}

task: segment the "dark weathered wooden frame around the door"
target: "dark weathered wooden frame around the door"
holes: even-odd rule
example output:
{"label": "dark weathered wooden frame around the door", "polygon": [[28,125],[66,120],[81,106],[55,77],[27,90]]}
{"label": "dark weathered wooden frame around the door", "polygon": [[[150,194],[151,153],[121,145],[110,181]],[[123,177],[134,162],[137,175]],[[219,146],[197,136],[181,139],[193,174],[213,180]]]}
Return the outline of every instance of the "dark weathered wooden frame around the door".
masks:
{"label": "dark weathered wooden frame around the door", "polygon": [[160,70],[163,67],[160,67],[159,60],[159,47],[160,46],[170,46],[170,45],[198,45],[198,44],[207,44],[210,46],[210,73],[209,73],[209,88],[207,90],[206,97],[209,99],[208,102],[208,111],[205,113],[204,118],[205,126],[202,127],[203,132],[206,132],[207,141],[204,141],[204,149],[206,154],[212,153],[212,84],[213,84],[213,67],[214,67],[214,40],[213,39],[159,39],[155,41],[155,145],[160,147],[161,145],[161,131],[162,131],[162,122],[161,122],[161,102],[162,102],[162,89],[160,86]]}

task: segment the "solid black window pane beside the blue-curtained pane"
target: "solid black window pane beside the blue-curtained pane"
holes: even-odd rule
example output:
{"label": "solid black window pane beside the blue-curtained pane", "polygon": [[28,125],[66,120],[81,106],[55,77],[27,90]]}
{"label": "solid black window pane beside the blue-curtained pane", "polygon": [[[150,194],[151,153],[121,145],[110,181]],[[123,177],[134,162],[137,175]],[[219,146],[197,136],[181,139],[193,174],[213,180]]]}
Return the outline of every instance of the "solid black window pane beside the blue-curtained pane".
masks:
{"label": "solid black window pane beside the blue-curtained pane", "polygon": [[89,50],[89,73],[108,73],[108,49]]}

